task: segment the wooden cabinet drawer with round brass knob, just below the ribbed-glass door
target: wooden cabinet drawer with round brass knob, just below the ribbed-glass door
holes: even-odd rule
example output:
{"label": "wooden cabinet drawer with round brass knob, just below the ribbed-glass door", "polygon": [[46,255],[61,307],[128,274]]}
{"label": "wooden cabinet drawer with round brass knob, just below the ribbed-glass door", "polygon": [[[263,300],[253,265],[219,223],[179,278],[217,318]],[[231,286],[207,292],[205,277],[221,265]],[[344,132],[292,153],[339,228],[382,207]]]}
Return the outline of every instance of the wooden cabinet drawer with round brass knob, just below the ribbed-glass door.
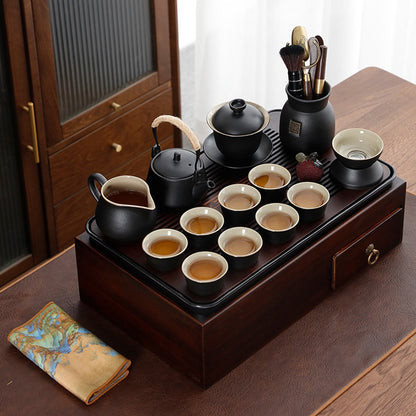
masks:
{"label": "wooden cabinet drawer with round brass knob, just below the ribbed-glass door", "polygon": [[[51,155],[53,204],[80,191],[92,172],[111,172],[143,152],[150,155],[154,144],[152,121],[160,114],[172,112],[172,92],[163,92]],[[159,139],[166,139],[172,131],[164,123],[158,131]],[[115,143],[121,145],[121,151],[116,151]]]}

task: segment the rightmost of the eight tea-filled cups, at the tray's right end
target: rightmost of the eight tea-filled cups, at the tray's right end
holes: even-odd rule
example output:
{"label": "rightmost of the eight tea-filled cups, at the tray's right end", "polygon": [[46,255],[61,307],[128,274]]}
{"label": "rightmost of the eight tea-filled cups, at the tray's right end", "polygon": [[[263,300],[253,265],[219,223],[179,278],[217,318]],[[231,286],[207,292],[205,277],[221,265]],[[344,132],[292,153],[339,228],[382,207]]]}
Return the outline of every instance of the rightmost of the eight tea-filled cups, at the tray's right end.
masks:
{"label": "rightmost of the eight tea-filled cups, at the tray's right end", "polygon": [[315,182],[299,182],[287,191],[287,199],[303,221],[316,221],[325,215],[330,194],[325,186]]}

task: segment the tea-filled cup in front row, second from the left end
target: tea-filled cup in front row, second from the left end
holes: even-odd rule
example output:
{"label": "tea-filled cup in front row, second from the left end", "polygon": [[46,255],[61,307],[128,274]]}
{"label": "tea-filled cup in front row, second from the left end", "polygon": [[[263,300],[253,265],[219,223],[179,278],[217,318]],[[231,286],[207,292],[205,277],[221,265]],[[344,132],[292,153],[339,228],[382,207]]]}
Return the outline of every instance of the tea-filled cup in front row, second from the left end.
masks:
{"label": "tea-filled cup in front row, second from the left end", "polygon": [[256,264],[263,240],[251,228],[233,227],[220,234],[218,246],[231,268],[243,269]]}

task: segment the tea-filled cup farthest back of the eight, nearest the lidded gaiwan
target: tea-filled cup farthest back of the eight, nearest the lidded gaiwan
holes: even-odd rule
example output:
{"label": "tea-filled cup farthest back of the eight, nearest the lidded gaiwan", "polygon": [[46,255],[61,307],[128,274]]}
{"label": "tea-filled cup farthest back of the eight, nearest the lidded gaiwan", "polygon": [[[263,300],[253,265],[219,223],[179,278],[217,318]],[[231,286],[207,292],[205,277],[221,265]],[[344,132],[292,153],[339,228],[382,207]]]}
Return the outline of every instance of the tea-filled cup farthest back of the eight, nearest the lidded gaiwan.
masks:
{"label": "tea-filled cup farthest back of the eight, nearest the lidded gaiwan", "polygon": [[248,173],[250,183],[260,191],[262,199],[268,202],[282,200],[291,179],[286,168],[274,163],[255,166]]}

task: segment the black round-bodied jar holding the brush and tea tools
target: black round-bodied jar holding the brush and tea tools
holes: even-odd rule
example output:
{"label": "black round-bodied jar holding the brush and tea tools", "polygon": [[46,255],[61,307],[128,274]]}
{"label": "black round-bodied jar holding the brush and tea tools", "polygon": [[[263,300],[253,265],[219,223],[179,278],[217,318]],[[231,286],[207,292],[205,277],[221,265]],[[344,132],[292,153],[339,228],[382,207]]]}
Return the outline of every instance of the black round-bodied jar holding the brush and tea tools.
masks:
{"label": "black round-bodied jar holding the brush and tea tools", "polygon": [[329,96],[331,86],[325,82],[320,98],[304,100],[294,97],[286,87],[287,101],[280,117],[280,140],[288,153],[325,153],[335,135],[335,115]]}

